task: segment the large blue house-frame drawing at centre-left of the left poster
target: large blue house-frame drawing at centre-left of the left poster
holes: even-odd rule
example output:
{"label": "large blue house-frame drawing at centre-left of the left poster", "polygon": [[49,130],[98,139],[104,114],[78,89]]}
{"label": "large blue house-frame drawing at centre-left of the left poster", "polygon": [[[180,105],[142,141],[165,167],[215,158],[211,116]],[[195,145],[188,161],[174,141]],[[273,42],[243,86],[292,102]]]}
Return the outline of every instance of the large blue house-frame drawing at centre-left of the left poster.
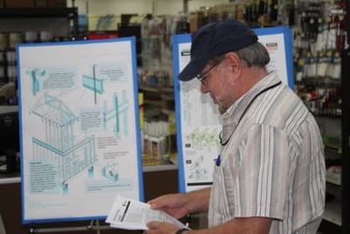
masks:
{"label": "large blue house-frame drawing at centre-left of the left poster", "polygon": [[45,137],[33,137],[33,160],[56,161],[58,177],[64,191],[70,178],[89,168],[96,161],[95,136],[78,138],[75,124],[78,117],[57,97],[45,94],[31,109],[45,127]]}

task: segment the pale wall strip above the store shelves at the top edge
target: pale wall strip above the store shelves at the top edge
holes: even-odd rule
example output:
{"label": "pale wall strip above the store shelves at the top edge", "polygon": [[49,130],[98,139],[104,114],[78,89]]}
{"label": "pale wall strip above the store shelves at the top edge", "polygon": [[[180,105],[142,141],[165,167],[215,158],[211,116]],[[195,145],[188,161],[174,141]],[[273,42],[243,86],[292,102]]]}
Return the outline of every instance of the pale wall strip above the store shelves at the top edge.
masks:
{"label": "pale wall strip above the store shelves at the top edge", "polygon": [[[79,14],[89,15],[121,15],[121,14],[154,14],[178,15],[183,11],[184,0],[75,0]],[[204,6],[228,3],[229,0],[191,0],[188,11],[195,11]],[[69,6],[72,1],[67,0]]]}

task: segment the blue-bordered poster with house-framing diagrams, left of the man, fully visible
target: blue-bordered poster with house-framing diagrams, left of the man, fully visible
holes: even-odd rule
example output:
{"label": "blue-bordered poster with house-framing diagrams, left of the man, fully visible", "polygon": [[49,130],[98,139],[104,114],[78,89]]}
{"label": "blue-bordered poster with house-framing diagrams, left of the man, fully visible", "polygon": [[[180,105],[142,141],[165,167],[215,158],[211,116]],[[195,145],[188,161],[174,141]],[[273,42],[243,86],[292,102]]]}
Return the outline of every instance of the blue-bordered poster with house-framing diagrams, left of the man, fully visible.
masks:
{"label": "blue-bordered poster with house-framing diagrams, left of the man, fully visible", "polygon": [[17,46],[23,222],[144,199],[135,37]]}

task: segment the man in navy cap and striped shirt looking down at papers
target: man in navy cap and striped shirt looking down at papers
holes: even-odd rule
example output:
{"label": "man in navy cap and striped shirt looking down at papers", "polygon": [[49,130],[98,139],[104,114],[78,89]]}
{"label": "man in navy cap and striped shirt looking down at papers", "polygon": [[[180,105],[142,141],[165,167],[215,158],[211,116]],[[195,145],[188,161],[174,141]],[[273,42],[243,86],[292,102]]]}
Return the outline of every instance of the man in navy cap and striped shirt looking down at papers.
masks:
{"label": "man in navy cap and striped shirt looking down at papers", "polygon": [[213,186],[149,201],[179,219],[208,211],[208,229],[149,222],[146,234],[313,234],[325,208],[324,147],[315,118],[277,77],[247,25],[205,25],[192,36],[182,81],[197,77],[223,114]]}

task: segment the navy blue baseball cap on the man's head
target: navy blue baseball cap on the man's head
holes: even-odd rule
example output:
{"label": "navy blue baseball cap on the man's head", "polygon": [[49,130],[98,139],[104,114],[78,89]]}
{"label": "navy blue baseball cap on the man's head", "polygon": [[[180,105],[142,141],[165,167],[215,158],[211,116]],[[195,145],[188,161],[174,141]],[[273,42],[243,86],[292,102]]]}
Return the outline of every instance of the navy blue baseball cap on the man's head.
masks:
{"label": "navy blue baseball cap on the man's head", "polygon": [[191,38],[191,60],[178,75],[182,81],[198,76],[215,56],[250,46],[258,39],[248,25],[235,19],[204,25]]}

